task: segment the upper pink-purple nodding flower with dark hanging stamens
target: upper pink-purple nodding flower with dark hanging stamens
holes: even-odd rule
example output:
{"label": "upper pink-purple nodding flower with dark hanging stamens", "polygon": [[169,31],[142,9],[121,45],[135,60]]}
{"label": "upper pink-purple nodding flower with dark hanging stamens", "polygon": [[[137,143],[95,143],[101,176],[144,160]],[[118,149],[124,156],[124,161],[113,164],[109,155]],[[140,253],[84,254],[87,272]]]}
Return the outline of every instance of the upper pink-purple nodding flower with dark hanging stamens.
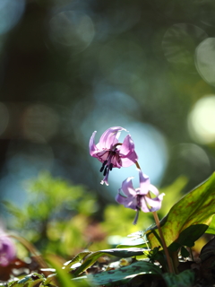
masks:
{"label": "upper pink-purple nodding flower with dark hanging stamens", "polygon": [[99,139],[99,143],[95,144],[94,132],[90,137],[90,155],[97,158],[102,166],[100,172],[103,172],[104,178],[101,184],[105,183],[108,186],[109,171],[113,168],[120,169],[121,167],[129,167],[138,159],[134,151],[134,143],[131,135],[125,136],[124,142],[119,143],[118,138],[125,128],[121,126],[113,126],[107,129]]}

